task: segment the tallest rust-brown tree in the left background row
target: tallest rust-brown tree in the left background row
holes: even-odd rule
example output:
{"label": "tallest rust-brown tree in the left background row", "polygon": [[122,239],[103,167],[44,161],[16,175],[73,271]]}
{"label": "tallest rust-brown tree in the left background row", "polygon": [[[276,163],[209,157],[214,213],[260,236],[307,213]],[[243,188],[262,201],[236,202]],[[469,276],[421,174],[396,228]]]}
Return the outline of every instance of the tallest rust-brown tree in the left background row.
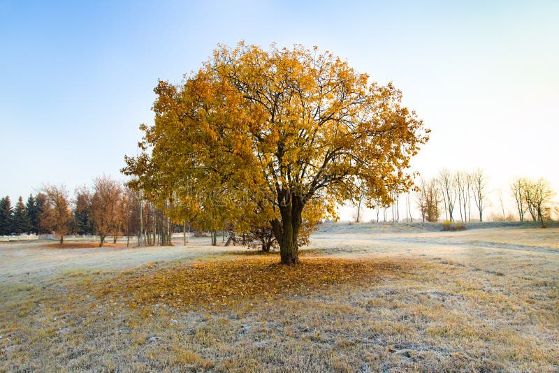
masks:
{"label": "tallest rust-brown tree in the left background row", "polygon": [[105,238],[118,235],[122,225],[122,187],[110,177],[97,177],[93,184],[91,219],[96,233],[99,234],[99,247]]}

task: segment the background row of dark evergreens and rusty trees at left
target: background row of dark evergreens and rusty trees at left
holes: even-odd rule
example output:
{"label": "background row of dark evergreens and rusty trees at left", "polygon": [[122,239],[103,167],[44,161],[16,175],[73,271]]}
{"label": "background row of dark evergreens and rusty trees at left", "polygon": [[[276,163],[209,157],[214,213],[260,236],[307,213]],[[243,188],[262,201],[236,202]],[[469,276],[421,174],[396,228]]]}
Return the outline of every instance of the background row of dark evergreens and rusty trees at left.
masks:
{"label": "background row of dark evergreens and rusty trees at left", "polygon": [[107,236],[138,236],[145,245],[170,244],[170,218],[140,193],[109,177],[98,177],[93,185],[75,189],[74,198],[64,186],[47,185],[27,203],[10,197],[0,200],[0,235],[20,234],[64,236],[99,235],[102,247]]}

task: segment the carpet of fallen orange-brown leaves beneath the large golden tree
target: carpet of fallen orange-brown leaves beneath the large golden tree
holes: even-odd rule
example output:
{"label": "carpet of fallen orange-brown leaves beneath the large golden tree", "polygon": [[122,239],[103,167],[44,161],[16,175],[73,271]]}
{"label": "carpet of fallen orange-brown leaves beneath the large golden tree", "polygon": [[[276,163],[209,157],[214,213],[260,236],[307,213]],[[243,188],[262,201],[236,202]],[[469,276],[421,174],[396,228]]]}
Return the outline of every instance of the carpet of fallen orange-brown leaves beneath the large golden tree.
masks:
{"label": "carpet of fallen orange-brown leaves beneath the large golden tree", "polygon": [[180,309],[231,307],[242,298],[270,301],[288,293],[310,293],[341,284],[372,284],[402,272],[409,263],[304,258],[281,265],[275,257],[197,262],[191,267],[123,272],[102,284],[101,295],[124,298],[133,307],[170,305]]}

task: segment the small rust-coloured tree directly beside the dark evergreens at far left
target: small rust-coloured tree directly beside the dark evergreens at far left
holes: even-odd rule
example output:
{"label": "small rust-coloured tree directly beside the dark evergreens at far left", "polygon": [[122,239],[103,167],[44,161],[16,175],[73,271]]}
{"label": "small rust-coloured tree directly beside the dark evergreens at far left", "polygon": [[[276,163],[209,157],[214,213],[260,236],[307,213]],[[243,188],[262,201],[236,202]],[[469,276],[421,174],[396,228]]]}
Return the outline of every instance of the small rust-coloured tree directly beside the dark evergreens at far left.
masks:
{"label": "small rust-coloured tree directly beside the dark evergreens at far left", "polygon": [[72,216],[68,206],[68,192],[64,186],[47,185],[43,188],[45,205],[41,214],[43,229],[59,235],[64,244],[64,235],[71,231]]}

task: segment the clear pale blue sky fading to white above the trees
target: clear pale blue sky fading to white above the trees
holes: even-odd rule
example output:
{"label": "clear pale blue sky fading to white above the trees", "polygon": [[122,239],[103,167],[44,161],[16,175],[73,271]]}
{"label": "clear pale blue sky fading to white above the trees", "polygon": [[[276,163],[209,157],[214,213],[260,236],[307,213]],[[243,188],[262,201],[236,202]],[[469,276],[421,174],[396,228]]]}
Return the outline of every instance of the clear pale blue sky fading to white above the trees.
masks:
{"label": "clear pale blue sky fading to white above the trees", "polygon": [[559,192],[558,19],[553,0],[0,0],[0,196],[124,180],[158,80],[238,41],[317,45],[393,82],[432,131],[425,177],[483,168],[492,193],[518,176]]}

